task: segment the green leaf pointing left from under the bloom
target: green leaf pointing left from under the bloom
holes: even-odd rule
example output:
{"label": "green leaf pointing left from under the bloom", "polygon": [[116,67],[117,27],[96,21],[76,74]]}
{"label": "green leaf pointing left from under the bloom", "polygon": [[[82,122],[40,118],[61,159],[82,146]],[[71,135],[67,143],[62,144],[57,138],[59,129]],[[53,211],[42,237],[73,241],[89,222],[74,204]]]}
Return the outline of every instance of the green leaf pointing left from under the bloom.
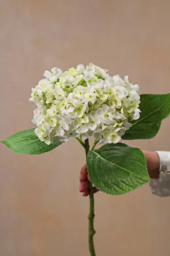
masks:
{"label": "green leaf pointing left from under the bloom", "polygon": [[1,143],[5,144],[16,153],[29,155],[40,155],[62,144],[62,142],[55,141],[47,145],[36,137],[34,130],[35,129],[19,131],[19,133],[15,133],[5,139],[5,141],[1,141]]}

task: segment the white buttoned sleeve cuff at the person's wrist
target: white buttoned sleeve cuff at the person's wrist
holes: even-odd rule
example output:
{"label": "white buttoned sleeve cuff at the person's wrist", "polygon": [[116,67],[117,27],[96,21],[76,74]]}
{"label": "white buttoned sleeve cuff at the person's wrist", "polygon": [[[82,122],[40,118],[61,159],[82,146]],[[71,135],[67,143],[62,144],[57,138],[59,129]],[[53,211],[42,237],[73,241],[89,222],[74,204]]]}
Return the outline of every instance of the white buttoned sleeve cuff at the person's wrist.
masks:
{"label": "white buttoned sleeve cuff at the person's wrist", "polygon": [[170,196],[170,152],[156,151],[159,155],[159,179],[152,179],[150,189],[156,196]]}

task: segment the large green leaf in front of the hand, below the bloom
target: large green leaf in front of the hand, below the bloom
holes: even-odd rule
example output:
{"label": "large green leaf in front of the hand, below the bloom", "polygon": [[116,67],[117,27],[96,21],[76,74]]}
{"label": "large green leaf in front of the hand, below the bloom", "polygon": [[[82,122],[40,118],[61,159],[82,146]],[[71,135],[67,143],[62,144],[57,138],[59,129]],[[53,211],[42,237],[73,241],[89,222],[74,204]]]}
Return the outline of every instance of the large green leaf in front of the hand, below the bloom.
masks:
{"label": "large green leaf in front of the hand, below the bloom", "polygon": [[89,151],[87,170],[92,184],[110,195],[128,193],[151,181],[143,152],[123,143]]}

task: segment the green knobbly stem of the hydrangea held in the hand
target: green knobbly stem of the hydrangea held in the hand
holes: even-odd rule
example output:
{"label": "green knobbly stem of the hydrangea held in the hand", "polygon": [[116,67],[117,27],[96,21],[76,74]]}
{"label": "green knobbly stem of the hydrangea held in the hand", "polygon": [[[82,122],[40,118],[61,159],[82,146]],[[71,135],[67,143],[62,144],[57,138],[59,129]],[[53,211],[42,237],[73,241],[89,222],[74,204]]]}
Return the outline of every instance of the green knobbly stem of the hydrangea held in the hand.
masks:
{"label": "green knobbly stem of the hydrangea held in the hand", "polygon": [[[96,142],[97,144],[97,142]],[[95,145],[96,145],[95,144]],[[93,146],[95,147],[95,146]],[[89,151],[89,141],[88,139],[85,140],[85,150],[86,150],[86,157]],[[89,193],[90,193],[90,212],[88,215],[88,246],[89,246],[89,251],[91,256],[95,256],[95,248],[94,248],[94,189],[91,181],[89,181]]]}

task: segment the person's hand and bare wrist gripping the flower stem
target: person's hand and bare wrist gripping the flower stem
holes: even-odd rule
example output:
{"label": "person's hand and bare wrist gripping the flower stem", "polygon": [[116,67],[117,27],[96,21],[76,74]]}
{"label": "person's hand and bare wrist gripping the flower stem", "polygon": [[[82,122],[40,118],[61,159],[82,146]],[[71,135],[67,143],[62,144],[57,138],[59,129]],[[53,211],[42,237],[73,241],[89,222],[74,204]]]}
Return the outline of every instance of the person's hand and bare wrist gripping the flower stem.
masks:
{"label": "person's hand and bare wrist gripping the flower stem", "polygon": [[[150,175],[151,179],[159,179],[159,156],[156,152],[143,151],[143,154],[146,158],[147,163],[147,171]],[[87,172],[87,166],[84,164],[80,171],[80,187],[79,191],[83,193],[83,196],[88,196],[88,183],[90,178]],[[99,191],[96,187],[94,187],[94,193]]]}

